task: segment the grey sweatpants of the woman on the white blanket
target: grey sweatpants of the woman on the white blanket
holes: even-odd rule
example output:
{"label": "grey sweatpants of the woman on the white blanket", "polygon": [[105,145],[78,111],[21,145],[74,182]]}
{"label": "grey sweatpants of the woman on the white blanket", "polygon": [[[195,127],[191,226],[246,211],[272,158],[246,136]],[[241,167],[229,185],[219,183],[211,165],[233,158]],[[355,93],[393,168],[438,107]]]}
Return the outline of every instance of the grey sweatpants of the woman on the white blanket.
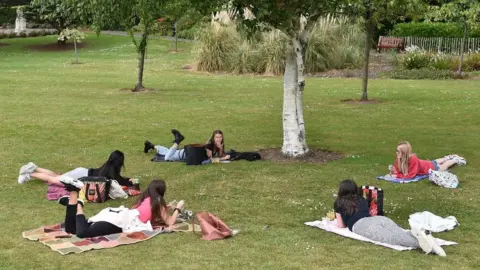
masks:
{"label": "grey sweatpants of the woman on the white blanket", "polygon": [[418,248],[418,240],[410,231],[403,230],[393,220],[384,216],[362,218],[355,222],[352,231],[373,241]]}

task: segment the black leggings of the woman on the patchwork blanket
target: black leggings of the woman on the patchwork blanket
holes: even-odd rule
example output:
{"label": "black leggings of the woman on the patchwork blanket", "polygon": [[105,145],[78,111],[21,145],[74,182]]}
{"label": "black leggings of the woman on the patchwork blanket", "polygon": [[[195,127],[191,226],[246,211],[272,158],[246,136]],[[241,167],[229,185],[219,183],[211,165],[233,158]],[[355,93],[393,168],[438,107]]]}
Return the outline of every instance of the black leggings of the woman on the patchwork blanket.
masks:
{"label": "black leggings of the woman on the patchwork blanket", "polygon": [[122,229],[106,221],[89,223],[85,215],[77,215],[77,205],[67,205],[65,231],[86,238],[121,233]]}

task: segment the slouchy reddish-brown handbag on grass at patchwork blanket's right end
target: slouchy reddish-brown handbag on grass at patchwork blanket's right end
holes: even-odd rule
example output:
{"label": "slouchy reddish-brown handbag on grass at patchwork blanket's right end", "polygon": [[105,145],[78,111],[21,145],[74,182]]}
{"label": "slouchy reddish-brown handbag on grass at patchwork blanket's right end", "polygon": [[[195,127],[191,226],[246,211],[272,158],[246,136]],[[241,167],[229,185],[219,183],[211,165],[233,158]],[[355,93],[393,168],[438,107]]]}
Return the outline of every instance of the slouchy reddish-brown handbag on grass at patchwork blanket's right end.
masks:
{"label": "slouchy reddish-brown handbag on grass at patchwork blanket's right end", "polygon": [[196,217],[202,230],[203,240],[219,240],[232,236],[232,230],[214,214],[199,212]]}

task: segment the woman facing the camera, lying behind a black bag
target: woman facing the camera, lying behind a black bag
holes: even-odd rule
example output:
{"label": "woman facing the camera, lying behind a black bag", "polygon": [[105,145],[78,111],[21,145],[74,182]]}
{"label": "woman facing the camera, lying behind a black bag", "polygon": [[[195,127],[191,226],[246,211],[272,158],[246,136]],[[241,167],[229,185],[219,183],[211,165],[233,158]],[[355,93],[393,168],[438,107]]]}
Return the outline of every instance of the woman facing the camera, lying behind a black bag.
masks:
{"label": "woman facing the camera, lying behind a black bag", "polygon": [[[173,146],[167,148],[162,145],[154,145],[149,141],[145,141],[143,152],[148,153],[150,149],[155,149],[155,151],[165,157],[166,161],[185,161],[185,150],[178,150],[178,146],[185,139],[185,137],[176,129],[172,129],[173,136]],[[221,130],[213,131],[212,137],[205,144],[205,149],[207,150],[208,159],[219,159],[219,160],[228,160],[230,155],[225,153],[225,144],[223,138],[223,132]]]}

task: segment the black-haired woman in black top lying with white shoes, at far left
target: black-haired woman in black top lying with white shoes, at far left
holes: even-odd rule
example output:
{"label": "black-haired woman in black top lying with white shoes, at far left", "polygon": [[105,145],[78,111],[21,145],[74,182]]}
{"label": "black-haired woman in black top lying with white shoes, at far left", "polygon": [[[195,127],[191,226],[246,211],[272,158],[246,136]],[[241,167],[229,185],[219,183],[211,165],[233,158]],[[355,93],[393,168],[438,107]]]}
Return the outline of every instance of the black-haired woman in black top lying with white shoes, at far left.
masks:
{"label": "black-haired woman in black top lying with white shoes, at far left", "polygon": [[126,178],[120,175],[124,167],[125,155],[118,150],[113,151],[108,160],[100,168],[76,168],[72,171],[59,175],[48,169],[40,168],[33,162],[29,162],[20,168],[18,183],[23,184],[32,179],[39,179],[48,184],[60,184],[64,181],[72,181],[85,176],[101,176],[107,179],[117,180],[122,186],[133,186],[133,178]]}

